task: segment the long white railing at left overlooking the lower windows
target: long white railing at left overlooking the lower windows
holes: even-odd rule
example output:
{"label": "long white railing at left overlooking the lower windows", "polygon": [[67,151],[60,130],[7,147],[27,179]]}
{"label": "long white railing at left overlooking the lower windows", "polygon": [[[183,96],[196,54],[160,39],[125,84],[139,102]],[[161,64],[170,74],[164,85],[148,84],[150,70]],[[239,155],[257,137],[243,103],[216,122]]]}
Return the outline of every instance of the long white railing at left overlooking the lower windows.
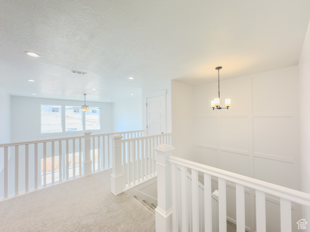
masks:
{"label": "long white railing at left overlooking the lower windows", "polygon": [[113,134],[131,138],[142,130],[0,144],[0,200],[110,168]]}

